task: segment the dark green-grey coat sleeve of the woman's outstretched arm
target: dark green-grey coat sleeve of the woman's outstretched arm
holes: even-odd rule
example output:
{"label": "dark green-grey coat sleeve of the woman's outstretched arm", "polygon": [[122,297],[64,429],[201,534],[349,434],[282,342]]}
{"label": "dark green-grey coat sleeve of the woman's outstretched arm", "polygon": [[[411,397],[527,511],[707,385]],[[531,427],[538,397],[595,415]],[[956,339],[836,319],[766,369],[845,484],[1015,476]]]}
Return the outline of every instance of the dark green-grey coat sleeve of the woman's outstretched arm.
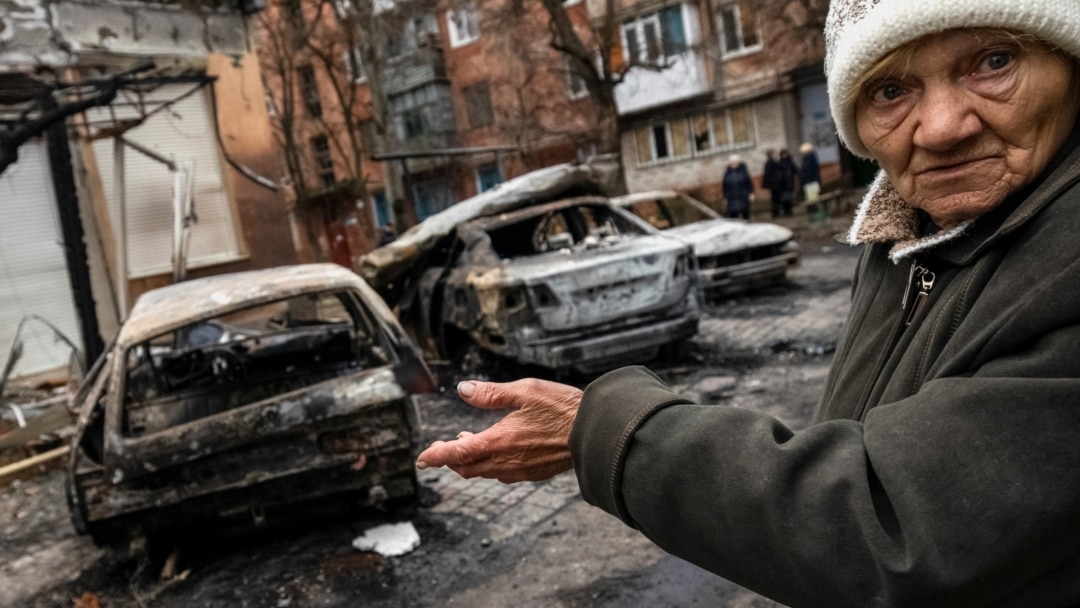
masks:
{"label": "dark green-grey coat sleeve of the woman's outstretched arm", "polygon": [[623,368],[585,391],[575,469],[590,503],[788,605],[1066,605],[1080,592],[1078,351],[1062,328],[864,422],[800,432]]}

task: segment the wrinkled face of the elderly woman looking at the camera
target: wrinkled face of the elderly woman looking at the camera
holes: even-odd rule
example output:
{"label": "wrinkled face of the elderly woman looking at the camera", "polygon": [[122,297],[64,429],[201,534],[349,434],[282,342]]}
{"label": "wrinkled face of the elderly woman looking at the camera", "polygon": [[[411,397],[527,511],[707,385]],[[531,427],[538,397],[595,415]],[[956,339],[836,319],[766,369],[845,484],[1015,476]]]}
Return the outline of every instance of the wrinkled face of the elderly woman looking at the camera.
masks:
{"label": "wrinkled face of the elderly woman looking at the camera", "polygon": [[1080,110],[1074,76],[1066,55],[1002,32],[927,36],[860,92],[859,138],[904,200],[954,226],[1045,168]]}

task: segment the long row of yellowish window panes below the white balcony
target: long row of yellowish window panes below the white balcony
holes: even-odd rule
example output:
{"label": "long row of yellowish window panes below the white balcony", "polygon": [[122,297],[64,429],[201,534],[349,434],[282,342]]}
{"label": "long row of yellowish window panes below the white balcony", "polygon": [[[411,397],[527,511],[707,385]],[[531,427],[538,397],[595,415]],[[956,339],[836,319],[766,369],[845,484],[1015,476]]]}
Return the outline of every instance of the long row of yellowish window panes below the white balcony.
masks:
{"label": "long row of yellowish window panes below the white balcony", "polygon": [[637,164],[745,148],[754,144],[754,116],[747,104],[667,120],[637,129]]}

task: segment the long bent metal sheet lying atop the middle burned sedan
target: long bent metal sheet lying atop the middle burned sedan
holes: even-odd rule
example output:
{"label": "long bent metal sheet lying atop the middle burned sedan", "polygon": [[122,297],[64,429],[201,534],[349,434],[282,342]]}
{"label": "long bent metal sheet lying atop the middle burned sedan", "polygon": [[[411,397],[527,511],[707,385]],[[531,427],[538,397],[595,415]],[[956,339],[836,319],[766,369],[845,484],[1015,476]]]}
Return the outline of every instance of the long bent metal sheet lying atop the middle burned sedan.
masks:
{"label": "long bent metal sheet lying atop the middle burned sedan", "polygon": [[360,275],[376,289],[381,289],[417,264],[422,265],[427,254],[461,222],[572,194],[610,193],[617,176],[618,162],[605,156],[515,177],[432,215],[395,241],[373,249],[361,258]]}

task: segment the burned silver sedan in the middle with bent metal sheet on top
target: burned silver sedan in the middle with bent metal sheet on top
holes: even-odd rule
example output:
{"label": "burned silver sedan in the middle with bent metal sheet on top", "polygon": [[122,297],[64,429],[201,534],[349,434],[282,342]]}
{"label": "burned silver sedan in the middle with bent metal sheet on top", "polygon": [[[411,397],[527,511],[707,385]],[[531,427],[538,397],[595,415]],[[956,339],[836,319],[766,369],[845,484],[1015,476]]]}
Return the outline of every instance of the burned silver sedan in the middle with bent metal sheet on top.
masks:
{"label": "burned silver sedan in the middle with bent metal sheet on top", "polygon": [[360,272],[432,359],[476,346],[581,374],[653,359],[697,333],[692,249],[597,194],[595,168],[549,167],[462,201]]}

